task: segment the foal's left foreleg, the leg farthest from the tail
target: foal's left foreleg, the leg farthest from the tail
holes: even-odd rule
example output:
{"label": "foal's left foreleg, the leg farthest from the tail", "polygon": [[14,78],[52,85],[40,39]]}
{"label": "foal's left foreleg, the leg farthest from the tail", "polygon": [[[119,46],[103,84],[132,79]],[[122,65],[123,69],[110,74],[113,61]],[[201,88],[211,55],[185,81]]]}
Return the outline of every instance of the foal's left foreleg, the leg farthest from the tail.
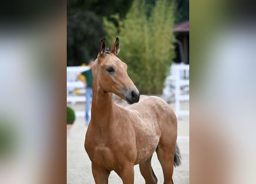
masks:
{"label": "foal's left foreleg, the leg farthest from the tail", "polygon": [[91,163],[91,170],[93,171],[95,184],[108,184],[109,171],[106,171],[104,168],[96,166],[93,163]]}

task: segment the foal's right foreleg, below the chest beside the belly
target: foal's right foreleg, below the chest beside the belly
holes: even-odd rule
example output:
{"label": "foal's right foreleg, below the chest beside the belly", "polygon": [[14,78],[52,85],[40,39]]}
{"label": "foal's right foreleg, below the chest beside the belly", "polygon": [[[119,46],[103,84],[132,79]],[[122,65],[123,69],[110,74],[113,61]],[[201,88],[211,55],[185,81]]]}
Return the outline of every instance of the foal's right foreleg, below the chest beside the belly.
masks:
{"label": "foal's right foreleg, below the chest beside the belly", "polygon": [[121,170],[116,171],[119,177],[122,179],[124,184],[134,183],[134,170],[133,164],[126,164]]}

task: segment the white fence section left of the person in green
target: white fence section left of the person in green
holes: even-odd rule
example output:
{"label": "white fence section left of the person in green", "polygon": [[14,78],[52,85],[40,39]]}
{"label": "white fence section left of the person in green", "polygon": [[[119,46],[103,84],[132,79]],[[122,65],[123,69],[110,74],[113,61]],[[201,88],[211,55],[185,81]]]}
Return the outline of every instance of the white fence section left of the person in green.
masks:
{"label": "white fence section left of the person in green", "polygon": [[88,66],[67,67],[67,102],[85,102],[85,86],[77,79],[77,74],[89,69]]}

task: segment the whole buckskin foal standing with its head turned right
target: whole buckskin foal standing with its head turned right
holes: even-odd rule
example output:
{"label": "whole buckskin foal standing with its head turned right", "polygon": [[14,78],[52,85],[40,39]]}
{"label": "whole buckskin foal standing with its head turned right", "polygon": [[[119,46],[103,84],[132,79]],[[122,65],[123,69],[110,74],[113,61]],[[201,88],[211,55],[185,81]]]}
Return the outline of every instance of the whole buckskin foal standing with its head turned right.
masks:
{"label": "whole buckskin foal standing with its head turned right", "polygon": [[[110,171],[114,170],[124,184],[132,184],[133,166],[139,164],[146,183],[155,184],[151,158],[156,151],[164,183],[172,184],[173,167],[180,164],[177,118],[161,98],[140,98],[127,74],[127,64],[117,57],[119,51],[118,38],[110,51],[103,39],[93,66],[93,101],[85,150],[91,160],[94,181],[108,183]],[[132,105],[116,105],[112,93]]]}

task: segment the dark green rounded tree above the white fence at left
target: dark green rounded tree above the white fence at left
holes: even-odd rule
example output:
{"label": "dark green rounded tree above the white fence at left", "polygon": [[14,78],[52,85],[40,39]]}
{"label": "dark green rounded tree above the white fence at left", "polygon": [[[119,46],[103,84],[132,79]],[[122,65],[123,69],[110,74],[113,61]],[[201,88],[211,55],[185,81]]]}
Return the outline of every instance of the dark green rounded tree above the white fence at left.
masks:
{"label": "dark green rounded tree above the white fence at left", "polygon": [[89,10],[78,10],[67,17],[67,65],[74,66],[95,58],[98,40],[104,37],[101,17]]}

